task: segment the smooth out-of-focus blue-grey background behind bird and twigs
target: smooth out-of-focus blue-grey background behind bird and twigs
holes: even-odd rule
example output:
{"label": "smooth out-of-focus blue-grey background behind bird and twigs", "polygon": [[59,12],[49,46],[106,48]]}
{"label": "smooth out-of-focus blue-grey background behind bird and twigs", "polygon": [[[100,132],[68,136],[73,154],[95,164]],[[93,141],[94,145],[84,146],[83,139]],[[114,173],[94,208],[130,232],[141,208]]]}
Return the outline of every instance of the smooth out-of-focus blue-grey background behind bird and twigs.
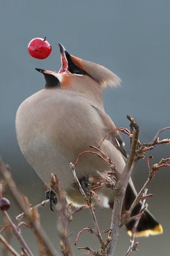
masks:
{"label": "smooth out-of-focus blue-grey background behind bird and twigs", "polygon": [[[130,114],[140,125],[141,142],[150,141],[160,128],[170,126],[169,10],[170,2],[164,0],[1,1],[0,153],[5,163],[11,166],[17,187],[29,197],[32,204],[44,200],[45,189],[19,150],[15,114],[24,99],[44,87],[44,77],[35,68],[59,70],[60,42],[70,54],[112,70],[122,79],[122,86],[104,90],[106,112],[117,126],[127,128],[129,121],[126,114]],[[45,60],[32,58],[27,51],[29,41],[44,36],[51,43],[51,55]],[[122,136],[129,150],[129,140]],[[168,136],[169,130],[160,137]],[[157,163],[162,157],[170,156],[170,146],[159,146],[150,154],[154,156],[151,163]],[[146,159],[140,160],[133,172],[138,191],[147,176]],[[162,224],[164,233],[138,238],[139,252],[133,252],[138,256],[169,255],[169,180],[170,171],[164,168],[149,186],[148,192],[154,194],[147,200],[149,210]],[[10,199],[9,194],[4,196]],[[56,231],[57,211],[51,212],[46,206],[39,212],[44,229],[60,251]],[[19,214],[13,201],[9,214],[14,221]],[[101,230],[109,228],[111,214],[109,209],[96,209]],[[0,224],[3,224],[2,215]],[[92,218],[88,210],[83,210],[69,224],[69,230],[73,232],[72,245],[78,231],[86,226],[93,226]],[[23,235],[32,252],[38,255],[32,231],[23,227]],[[11,244],[20,251],[15,238],[12,238]],[[84,254],[76,249],[80,246],[99,250],[97,238],[86,231],[74,246],[76,255]],[[125,255],[128,246],[129,237],[123,227],[115,255]]]}

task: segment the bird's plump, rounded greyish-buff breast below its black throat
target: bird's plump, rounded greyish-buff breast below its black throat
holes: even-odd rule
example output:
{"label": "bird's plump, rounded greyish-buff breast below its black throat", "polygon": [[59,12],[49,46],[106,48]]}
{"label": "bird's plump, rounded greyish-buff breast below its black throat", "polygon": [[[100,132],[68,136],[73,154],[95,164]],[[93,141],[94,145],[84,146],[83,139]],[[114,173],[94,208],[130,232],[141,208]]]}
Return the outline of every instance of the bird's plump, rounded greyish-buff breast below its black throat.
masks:
{"label": "bird's plump, rounded greyish-buff breast below its black throat", "polygon": [[[83,99],[42,90],[26,99],[17,111],[17,139],[22,153],[40,178],[48,185],[51,172],[56,173],[64,188],[73,183],[70,162],[78,154],[98,146],[104,130],[101,120]],[[98,124],[98,132],[96,125]],[[78,178],[94,175],[106,165],[86,153],[77,167]]]}

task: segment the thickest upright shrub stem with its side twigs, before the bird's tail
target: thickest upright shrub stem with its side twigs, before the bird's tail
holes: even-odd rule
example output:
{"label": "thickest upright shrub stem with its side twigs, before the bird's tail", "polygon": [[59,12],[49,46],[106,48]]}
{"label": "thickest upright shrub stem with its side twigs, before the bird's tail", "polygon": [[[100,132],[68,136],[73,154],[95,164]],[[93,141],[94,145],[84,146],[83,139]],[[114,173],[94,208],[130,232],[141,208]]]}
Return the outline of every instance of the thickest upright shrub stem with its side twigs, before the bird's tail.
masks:
{"label": "thickest upright shrub stem with its side twigs, before the bird's tail", "polygon": [[[103,180],[105,180],[105,183],[110,183],[110,185],[112,185],[112,188],[114,187],[113,188],[114,189],[114,205],[113,205],[113,210],[112,210],[112,222],[111,222],[111,227],[110,227],[110,234],[107,238],[107,243],[105,243],[105,245],[102,246],[102,244],[100,242],[100,245],[101,245],[100,251],[103,253],[102,255],[105,255],[105,253],[106,253],[107,256],[113,256],[114,255],[115,247],[116,247],[116,244],[117,244],[117,239],[118,239],[118,236],[119,236],[119,229],[121,228],[121,226],[125,223],[128,223],[132,219],[137,218],[137,220],[139,221],[140,217],[143,216],[144,213],[142,211],[140,211],[138,215],[130,217],[133,208],[136,206],[137,203],[139,203],[140,200],[143,201],[143,203],[142,203],[142,205],[143,205],[144,202],[145,202],[145,199],[147,197],[153,196],[152,194],[144,195],[143,193],[144,193],[146,187],[148,186],[148,184],[150,183],[150,181],[153,179],[155,173],[159,170],[160,167],[166,167],[166,166],[170,167],[170,165],[167,164],[167,161],[169,161],[170,158],[166,158],[166,159],[162,159],[159,164],[153,165],[152,169],[150,169],[149,161],[152,158],[152,156],[150,156],[148,158],[147,164],[148,164],[148,170],[149,170],[149,177],[148,177],[146,183],[144,184],[144,186],[142,187],[142,189],[140,190],[137,198],[134,200],[131,208],[128,210],[128,212],[125,214],[125,216],[122,216],[121,213],[122,213],[122,205],[123,205],[123,200],[124,200],[124,196],[125,196],[125,191],[126,191],[126,187],[128,185],[129,178],[132,174],[134,165],[136,164],[136,162],[140,158],[145,157],[145,155],[146,155],[145,152],[147,150],[152,150],[153,147],[155,147],[156,145],[159,145],[159,144],[169,144],[170,143],[169,139],[159,140],[159,138],[158,138],[158,135],[162,131],[170,128],[170,127],[167,127],[167,128],[163,128],[163,129],[159,130],[152,142],[141,144],[140,141],[139,141],[139,138],[138,138],[139,137],[139,126],[138,126],[138,124],[129,115],[127,115],[127,118],[131,122],[130,123],[130,128],[131,128],[130,131],[126,128],[115,128],[115,129],[113,129],[112,131],[109,132],[109,133],[112,133],[113,131],[120,130],[120,131],[124,132],[126,135],[128,135],[130,137],[131,150],[130,150],[130,154],[129,154],[129,157],[127,159],[125,168],[124,168],[121,175],[119,174],[119,172],[118,172],[116,166],[114,165],[114,163],[112,163],[111,159],[109,157],[107,157],[105,155],[105,153],[102,152],[99,148],[96,148],[95,146],[92,146],[92,145],[90,147],[99,151],[99,153],[93,152],[91,150],[86,150],[86,151],[79,154],[75,165],[73,165],[72,163],[70,164],[71,170],[72,170],[73,175],[74,175],[74,180],[75,180],[76,184],[78,185],[78,187],[80,189],[80,192],[84,196],[85,201],[86,201],[87,204],[89,203],[88,198],[85,195],[82,187],[80,186],[79,181],[78,181],[77,176],[76,176],[76,173],[75,173],[75,167],[78,163],[79,157],[82,156],[85,153],[96,154],[103,161],[105,161],[111,167],[112,171],[115,172],[115,174],[116,174],[115,177],[116,177],[117,182],[115,184],[114,182],[112,182],[112,180],[110,178],[106,178],[102,173],[97,172],[103,178]],[[104,139],[100,143],[100,146],[101,146],[101,144],[103,143],[103,141],[105,140],[105,138],[107,137],[107,135],[109,133],[107,133],[105,135]],[[95,180],[94,178],[91,178],[91,179]],[[101,187],[101,186],[99,186],[99,187]],[[96,189],[98,187],[94,187],[94,188]],[[94,211],[93,211],[92,216],[95,216]],[[93,218],[93,220],[94,220],[94,218]],[[134,225],[133,236],[134,236],[138,221],[136,221],[136,223]],[[96,220],[94,221],[94,223],[95,223],[95,227],[96,226],[98,227],[98,224],[97,224]],[[78,233],[78,236],[83,230],[81,230]],[[132,240],[133,240],[133,238],[132,238]],[[134,244],[134,240],[133,240],[133,250],[137,250],[138,245],[139,245],[139,243],[136,242]],[[81,247],[81,249],[88,250],[87,248],[89,249],[89,247]],[[91,250],[91,252],[90,252],[90,250]],[[89,250],[89,252],[92,253],[91,248],[90,248],[90,250]],[[95,254],[95,253],[97,253],[97,254]],[[92,255],[100,255],[100,254],[98,254],[98,252],[96,252],[96,251],[93,251]],[[127,254],[127,255],[129,255],[129,254]]]}

